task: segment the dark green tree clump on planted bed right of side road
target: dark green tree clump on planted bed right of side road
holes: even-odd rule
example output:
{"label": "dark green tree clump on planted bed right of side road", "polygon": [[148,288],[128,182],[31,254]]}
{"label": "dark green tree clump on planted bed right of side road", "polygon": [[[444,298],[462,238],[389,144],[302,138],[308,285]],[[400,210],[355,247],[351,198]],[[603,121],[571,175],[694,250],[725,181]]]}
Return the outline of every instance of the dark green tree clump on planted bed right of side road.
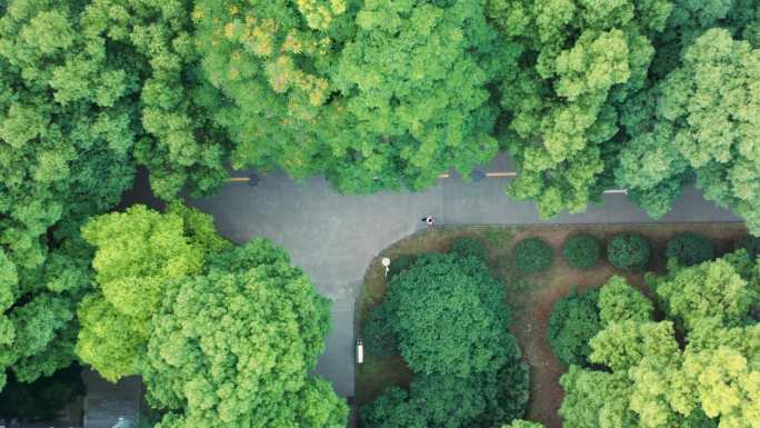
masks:
{"label": "dark green tree clump on planted bed right of side road", "polygon": [[[529,370],[508,332],[503,288],[477,253],[476,241],[459,240],[451,253],[422,255],[390,280],[369,331],[391,331],[414,378],[364,406],[362,426],[496,427],[524,412]],[[378,346],[366,338],[369,350]]]}

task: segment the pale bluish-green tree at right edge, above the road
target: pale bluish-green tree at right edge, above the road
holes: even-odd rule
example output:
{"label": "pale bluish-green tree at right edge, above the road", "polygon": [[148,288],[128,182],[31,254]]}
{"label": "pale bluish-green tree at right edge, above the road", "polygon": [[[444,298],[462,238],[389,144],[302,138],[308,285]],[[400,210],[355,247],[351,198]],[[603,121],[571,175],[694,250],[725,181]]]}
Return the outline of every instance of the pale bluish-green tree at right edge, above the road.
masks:
{"label": "pale bluish-green tree at right edge, above the road", "polygon": [[[722,3],[717,16],[730,2]],[[627,131],[637,137],[622,150],[617,177],[621,186],[648,195],[640,202],[650,212],[663,213],[672,200],[667,193],[693,176],[706,198],[744,217],[751,231],[760,230],[760,172],[752,160],[758,148],[749,125],[759,102],[752,86],[758,58],[729,30],[709,30],[688,43],[680,67],[628,108],[636,113]]]}

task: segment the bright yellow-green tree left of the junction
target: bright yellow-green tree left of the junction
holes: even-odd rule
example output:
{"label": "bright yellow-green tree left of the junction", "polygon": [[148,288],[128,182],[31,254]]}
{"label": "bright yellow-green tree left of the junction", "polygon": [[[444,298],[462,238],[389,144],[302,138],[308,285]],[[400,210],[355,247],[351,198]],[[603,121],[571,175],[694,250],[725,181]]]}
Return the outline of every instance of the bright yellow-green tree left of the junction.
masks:
{"label": "bright yellow-green tree left of the junction", "polygon": [[167,289],[201,272],[206,249],[193,245],[192,230],[178,213],[144,206],[96,217],[82,228],[96,247],[98,289],[79,308],[77,354],[106,379],[139,372],[138,357]]}

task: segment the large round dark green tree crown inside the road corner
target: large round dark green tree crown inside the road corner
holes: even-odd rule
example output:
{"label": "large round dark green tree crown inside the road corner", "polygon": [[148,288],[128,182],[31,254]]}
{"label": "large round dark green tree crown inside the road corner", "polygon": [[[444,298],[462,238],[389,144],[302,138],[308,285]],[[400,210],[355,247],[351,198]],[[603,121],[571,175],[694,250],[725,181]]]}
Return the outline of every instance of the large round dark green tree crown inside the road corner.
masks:
{"label": "large round dark green tree crown inside the road corner", "polygon": [[393,335],[413,371],[467,377],[507,361],[509,316],[482,261],[426,255],[390,290]]}

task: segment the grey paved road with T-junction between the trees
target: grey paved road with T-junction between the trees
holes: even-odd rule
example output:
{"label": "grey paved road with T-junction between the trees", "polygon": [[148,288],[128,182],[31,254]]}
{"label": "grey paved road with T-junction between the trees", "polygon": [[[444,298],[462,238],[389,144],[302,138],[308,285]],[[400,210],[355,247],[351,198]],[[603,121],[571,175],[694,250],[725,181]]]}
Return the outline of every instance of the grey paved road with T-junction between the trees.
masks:
{"label": "grey paved road with T-junction between the trees", "polygon": [[[507,159],[499,158],[487,170],[513,169]],[[282,245],[317,289],[332,299],[332,331],[317,372],[348,397],[353,395],[353,308],[364,271],[383,248],[422,228],[423,216],[433,213],[442,225],[653,221],[624,195],[608,195],[603,206],[589,207],[584,213],[541,221],[532,203],[504,196],[507,180],[487,178],[466,185],[452,177],[419,193],[342,196],[323,179],[299,183],[273,173],[253,188],[230,183],[218,195],[191,203],[212,213],[220,232],[234,241],[263,236]],[[729,211],[704,201],[696,189],[687,189],[660,221],[737,220]]]}

